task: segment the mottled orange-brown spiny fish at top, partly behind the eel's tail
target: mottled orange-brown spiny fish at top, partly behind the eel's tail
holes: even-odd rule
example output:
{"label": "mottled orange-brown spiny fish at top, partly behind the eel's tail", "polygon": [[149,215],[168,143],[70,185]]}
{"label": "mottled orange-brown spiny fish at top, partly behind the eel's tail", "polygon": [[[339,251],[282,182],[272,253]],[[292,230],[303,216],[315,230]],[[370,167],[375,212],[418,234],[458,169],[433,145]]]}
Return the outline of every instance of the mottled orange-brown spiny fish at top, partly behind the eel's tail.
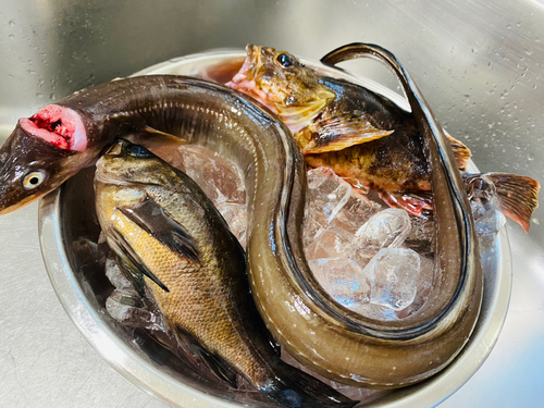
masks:
{"label": "mottled orange-brown spiny fish at top, partly behind the eel's tail", "polygon": [[[343,60],[351,58],[343,53]],[[323,61],[327,63],[327,57]],[[285,51],[251,45],[244,65],[227,85],[276,113],[294,133],[310,166],[330,168],[356,187],[373,188],[390,206],[411,214],[432,209],[430,168],[415,118],[387,98],[325,77]],[[470,150],[447,137],[459,169],[466,170]],[[503,184],[496,189],[502,211],[528,231],[537,207],[539,184],[514,174],[489,178]]]}

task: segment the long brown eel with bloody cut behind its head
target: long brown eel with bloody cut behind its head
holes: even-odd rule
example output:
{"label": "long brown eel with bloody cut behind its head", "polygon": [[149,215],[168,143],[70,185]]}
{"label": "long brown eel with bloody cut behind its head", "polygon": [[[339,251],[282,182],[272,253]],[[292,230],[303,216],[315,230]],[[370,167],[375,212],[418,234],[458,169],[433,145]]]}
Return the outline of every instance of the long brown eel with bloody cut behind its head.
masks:
{"label": "long brown eel with bloody cut behind its head", "polygon": [[[349,55],[343,52],[326,61]],[[364,318],[321,288],[304,255],[306,169],[289,131],[251,98],[194,77],[120,79],[21,120],[0,149],[0,213],[58,187],[127,133],[181,136],[240,166],[254,299],[268,330],[289,354],[351,385],[399,387],[429,378],[461,350],[478,319],[482,270],[473,221],[450,148],[413,82],[387,51],[359,46],[357,52],[394,69],[430,158],[437,277],[413,316],[392,322]]]}

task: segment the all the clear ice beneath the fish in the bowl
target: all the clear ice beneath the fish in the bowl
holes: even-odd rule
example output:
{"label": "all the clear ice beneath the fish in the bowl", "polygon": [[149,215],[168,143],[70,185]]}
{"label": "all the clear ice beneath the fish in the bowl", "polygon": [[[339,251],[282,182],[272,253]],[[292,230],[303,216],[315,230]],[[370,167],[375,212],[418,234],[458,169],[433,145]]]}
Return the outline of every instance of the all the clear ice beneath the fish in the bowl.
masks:
{"label": "all the clear ice beneath the fish in the bowl", "polygon": [[[245,189],[237,166],[196,145],[161,141],[147,147],[205,190],[245,248]],[[370,199],[325,168],[308,171],[308,197],[305,251],[321,286],[338,304],[373,319],[396,320],[416,312],[434,279],[432,219]],[[474,200],[471,206],[478,234],[496,234],[504,215],[491,201]],[[126,302],[127,296],[114,295],[111,302]],[[110,308],[120,318],[134,314],[129,305]]]}

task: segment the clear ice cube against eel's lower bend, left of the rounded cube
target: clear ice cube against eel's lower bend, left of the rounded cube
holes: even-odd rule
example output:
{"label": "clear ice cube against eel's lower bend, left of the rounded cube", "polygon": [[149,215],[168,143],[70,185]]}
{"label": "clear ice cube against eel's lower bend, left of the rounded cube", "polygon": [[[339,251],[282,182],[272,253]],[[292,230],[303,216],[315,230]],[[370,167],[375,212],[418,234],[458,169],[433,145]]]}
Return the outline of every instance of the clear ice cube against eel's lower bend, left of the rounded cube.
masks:
{"label": "clear ice cube against eel's lower bend, left of the rounded cube", "polygon": [[324,258],[308,263],[319,284],[338,304],[356,309],[369,301],[369,282],[355,261],[345,258]]}

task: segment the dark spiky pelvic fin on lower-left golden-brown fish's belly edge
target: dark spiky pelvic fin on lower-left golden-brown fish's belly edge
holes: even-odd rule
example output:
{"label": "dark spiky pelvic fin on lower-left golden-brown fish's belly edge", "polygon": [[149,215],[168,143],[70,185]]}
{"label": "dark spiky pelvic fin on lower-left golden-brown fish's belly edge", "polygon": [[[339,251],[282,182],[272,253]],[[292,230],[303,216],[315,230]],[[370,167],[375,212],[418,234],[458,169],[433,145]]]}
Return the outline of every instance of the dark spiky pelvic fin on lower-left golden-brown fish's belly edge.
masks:
{"label": "dark spiky pelvic fin on lower-left golden-brown fish's belly edge", "polygon": [[164,285],[157,275],[146,267],[141,258],[134,251],[125,237],[115,228],[112,228],[108,234],[108,245],[115,252],[120,260],[120,265],[126,277],[133,283],[134,288],[138,293],[144,290],[144,276],[149,277],[159,287],[165,292],[170,289]]}

